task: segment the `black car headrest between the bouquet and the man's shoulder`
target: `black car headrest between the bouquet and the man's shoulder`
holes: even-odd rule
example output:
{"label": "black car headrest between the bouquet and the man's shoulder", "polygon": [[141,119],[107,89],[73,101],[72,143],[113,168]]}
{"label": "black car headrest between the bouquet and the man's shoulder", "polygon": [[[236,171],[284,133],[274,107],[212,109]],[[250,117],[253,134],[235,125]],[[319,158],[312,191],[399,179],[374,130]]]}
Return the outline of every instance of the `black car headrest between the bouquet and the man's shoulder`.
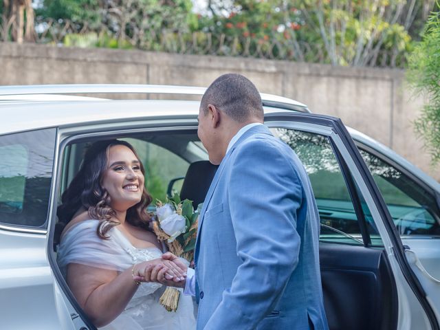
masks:
{"label": "black car headrest between the bouquet and the man's shoulder", "polygon": [[212,165],[208,160],[201,160],[190,164],[186,171],[184,184],[181,186],[180,198],[190,199],[192,206],[196,209],[199,203],[203,203],[209,186],[218,165]]}

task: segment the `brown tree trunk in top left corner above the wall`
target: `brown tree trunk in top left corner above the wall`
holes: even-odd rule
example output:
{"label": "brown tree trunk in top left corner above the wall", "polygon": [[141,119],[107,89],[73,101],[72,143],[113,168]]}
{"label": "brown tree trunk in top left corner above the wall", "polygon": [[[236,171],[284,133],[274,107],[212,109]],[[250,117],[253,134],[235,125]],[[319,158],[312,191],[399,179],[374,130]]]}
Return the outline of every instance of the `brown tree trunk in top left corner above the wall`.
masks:
{"label": "brown tree trunk in top left corner above the wall", "polygon": [[3,0],[1,10],[3,39],[10,34],[17,43],[35,41],[32,0]]}

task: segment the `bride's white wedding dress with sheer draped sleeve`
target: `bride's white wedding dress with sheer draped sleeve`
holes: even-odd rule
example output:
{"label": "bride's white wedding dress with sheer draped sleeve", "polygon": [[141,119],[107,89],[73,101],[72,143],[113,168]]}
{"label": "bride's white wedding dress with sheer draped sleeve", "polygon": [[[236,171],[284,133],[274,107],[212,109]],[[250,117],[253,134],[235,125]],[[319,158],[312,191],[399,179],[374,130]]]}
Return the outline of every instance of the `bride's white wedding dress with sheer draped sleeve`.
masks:
{"label": "bride's white wedding dress with sheer draped sleeve", "polygon": [[[107,232],[109,239],[96,234],[98,220],[91,219],[72,225],[65,232],[58,249],[58,265],[65,276],[69,263],[80,263],[122,272],[135,263],[157,259],[158,248],[137,249],[117,228]],[[194,305],[190,296],[180,295],[176,312],[169,312],[159,304],[164,286],[142,283],[129,304],[105,330],[190,330],[195,329]]]}

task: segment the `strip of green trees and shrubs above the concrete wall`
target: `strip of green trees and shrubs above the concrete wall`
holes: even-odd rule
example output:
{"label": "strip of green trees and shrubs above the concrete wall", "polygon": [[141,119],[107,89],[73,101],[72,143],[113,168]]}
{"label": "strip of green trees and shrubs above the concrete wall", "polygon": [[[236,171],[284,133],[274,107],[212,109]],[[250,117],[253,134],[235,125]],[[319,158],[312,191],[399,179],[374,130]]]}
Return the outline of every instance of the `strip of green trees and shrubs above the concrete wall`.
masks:
{"label": "strip of green trees and shrubs above the concrete wall", "polygon": [[37,15],[67,46],[403,67],[432,1],[43,0]]}

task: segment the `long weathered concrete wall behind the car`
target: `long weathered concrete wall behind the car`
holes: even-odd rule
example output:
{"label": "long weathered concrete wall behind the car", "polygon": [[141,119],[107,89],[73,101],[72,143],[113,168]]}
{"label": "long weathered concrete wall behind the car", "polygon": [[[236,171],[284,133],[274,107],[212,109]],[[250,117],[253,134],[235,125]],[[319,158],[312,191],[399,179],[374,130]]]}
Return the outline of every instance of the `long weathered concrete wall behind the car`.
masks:
{"label": "long weathered concrete wall behind the car", "polygon": [[294,98],[315,113],[345,124],[390,146],[428,174],[430,168],[412,120],[423,104],[412,98],[399,69],[331,67],[267,61],[0,43],[0,85],[130,83],[207,86],[225,72],[238,72],[261,92]]}

